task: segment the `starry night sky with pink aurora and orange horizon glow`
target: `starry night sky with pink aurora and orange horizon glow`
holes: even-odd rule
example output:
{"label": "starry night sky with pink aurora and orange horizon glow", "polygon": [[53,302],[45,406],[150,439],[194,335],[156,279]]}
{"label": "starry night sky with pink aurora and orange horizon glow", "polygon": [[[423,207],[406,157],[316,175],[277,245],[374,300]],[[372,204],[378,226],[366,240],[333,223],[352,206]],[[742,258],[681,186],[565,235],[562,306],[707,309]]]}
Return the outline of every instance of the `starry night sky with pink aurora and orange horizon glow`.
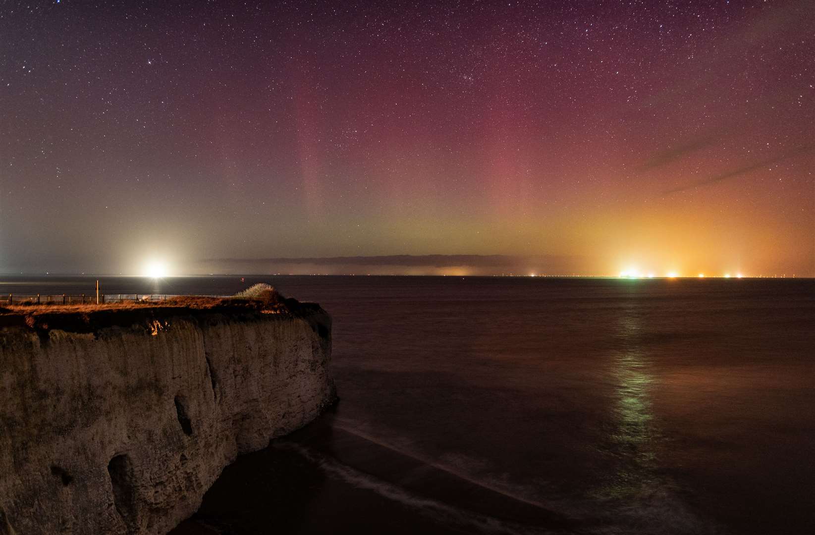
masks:
{"label": "starry night sky with pink aurora and orange horizon glow", "polygon": [[813,28],[810,0],[2,2],[0,273],[815,276]]}

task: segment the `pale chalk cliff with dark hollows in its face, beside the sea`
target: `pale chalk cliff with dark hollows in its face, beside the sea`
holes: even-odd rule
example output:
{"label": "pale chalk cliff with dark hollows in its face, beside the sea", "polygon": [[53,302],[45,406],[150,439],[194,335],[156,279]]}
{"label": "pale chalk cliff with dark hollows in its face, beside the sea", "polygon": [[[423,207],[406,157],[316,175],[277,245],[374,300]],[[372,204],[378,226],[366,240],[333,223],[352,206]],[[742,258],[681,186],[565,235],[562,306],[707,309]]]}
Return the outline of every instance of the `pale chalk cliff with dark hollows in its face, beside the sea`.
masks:
{"label": "pale chalk cliff with dark hollows in its face, beside the sea", "polygon": [[0,327],[0,535],[166,533],[336,398],[315,305],[106,314]]}

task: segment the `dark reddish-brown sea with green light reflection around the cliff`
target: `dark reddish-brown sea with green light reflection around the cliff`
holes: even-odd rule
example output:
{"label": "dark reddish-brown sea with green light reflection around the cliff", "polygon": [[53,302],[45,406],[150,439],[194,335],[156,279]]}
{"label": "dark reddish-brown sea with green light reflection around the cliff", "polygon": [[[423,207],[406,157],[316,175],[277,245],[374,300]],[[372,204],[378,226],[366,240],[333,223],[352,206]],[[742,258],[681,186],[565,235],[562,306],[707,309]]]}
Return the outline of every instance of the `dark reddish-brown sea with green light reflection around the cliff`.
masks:
{"label": "dark reddish-brown sea with green light reflection around the cliff", "polygon": [[[334,318],[341,401],[223,472],[177,533],[815,533],[815,281],[268,282]],[[0,278],[93,293],[93,278]]]}

